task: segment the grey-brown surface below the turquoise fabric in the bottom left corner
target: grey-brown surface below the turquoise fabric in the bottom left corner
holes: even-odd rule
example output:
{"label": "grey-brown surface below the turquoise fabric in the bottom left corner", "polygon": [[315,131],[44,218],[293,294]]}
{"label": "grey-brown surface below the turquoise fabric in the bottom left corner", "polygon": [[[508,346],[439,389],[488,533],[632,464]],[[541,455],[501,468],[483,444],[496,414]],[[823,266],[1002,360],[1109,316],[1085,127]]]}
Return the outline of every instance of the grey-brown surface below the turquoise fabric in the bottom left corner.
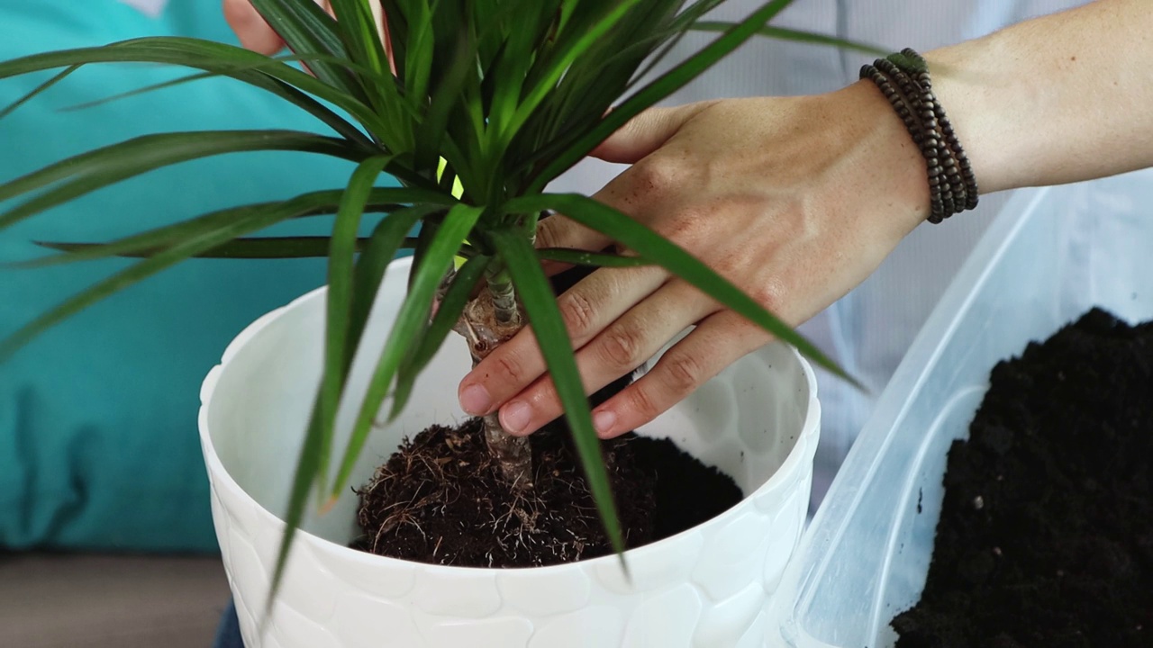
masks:
{"label": "grey-brown surface below the turquoise fabric in the bottom left corner", "polygon": [[210,648],[217,558],[0,553],[0,647]]}

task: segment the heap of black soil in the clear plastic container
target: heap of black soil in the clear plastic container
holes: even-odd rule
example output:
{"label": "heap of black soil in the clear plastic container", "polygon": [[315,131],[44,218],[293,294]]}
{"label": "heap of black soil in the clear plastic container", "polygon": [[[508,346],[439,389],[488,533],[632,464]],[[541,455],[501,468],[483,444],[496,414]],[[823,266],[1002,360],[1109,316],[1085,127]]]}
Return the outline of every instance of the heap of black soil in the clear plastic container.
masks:
{"label": "heap of black soil in the clear plastic container", "polygon": [[898,648],[1153,646],[1153,323],[1094,309],[993,370]]}

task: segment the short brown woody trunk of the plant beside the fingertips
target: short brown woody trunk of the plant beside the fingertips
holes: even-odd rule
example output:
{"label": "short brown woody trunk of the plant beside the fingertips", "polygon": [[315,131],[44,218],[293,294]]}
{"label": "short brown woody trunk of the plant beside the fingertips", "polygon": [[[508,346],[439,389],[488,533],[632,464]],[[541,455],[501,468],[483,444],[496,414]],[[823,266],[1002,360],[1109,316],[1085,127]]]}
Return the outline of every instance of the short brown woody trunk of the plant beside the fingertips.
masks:
{"label": "short brown woody trunk of the plant beside the fingertips", "polygon": [[[473,367],[476,367],[493,349],[515,336],[523,327],[523,322],[512,284],[490,278],[488,289],[481,291],[465,307],[455,330],[468,340]],[[514,489],[533,488],[533,454],[528,437],[514,437],[506,432],[500,427],[497,414],[492,413],[484,416],[484,439],[505,480]]]}

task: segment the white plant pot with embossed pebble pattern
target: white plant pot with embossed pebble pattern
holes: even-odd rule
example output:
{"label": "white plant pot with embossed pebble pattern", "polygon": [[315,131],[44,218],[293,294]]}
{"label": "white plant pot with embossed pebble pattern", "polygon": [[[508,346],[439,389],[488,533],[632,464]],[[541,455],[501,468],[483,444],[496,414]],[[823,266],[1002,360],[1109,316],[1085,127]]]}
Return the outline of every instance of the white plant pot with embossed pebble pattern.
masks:
{"label": "white plant pot with embossed pebble pattern", "polygon": [[[409,259],[390,265],[368,325],[379,351]],[[281,515],[319,382],[325,294],[309,293],[246,329],[201,393],[212,513],[248,648],[609,648],[760,646],[761,618],[797,544],[808,504],[820,407],[808,364],[770,345],[640,430],[673,438],[731,475],[745,499],[713,520],[615,557],[537,568],[444,567],[347,549],[356,497],[309,517],[271,623],[258,635]],[[468,369],[450,339],[393,424],[374,430],[354,483],[431,423],[464,420],[455,385]],[[349,393],[363,393],[368,362]],[[351,399],[356,401],[359,399]],[[347,404],[346,404],[347,405]],[[353,402],[355,405],[355,402]],[[353,410],[338,416],[340,434]]]}

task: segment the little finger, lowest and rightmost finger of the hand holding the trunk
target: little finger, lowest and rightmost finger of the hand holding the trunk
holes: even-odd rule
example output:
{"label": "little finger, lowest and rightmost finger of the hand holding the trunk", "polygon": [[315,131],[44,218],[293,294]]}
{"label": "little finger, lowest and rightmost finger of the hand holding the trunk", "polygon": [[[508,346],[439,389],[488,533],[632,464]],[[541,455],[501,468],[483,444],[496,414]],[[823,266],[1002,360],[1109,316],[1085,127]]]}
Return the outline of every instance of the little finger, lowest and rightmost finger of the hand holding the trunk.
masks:
{"label": "little finger, lowest and rightmost finger of the hand holding the trunk", "polygon": [[593,412],[597,435],[612,438],[653,421],[770,340],[768,333],[732,311],[710,315],[645,376]]}

